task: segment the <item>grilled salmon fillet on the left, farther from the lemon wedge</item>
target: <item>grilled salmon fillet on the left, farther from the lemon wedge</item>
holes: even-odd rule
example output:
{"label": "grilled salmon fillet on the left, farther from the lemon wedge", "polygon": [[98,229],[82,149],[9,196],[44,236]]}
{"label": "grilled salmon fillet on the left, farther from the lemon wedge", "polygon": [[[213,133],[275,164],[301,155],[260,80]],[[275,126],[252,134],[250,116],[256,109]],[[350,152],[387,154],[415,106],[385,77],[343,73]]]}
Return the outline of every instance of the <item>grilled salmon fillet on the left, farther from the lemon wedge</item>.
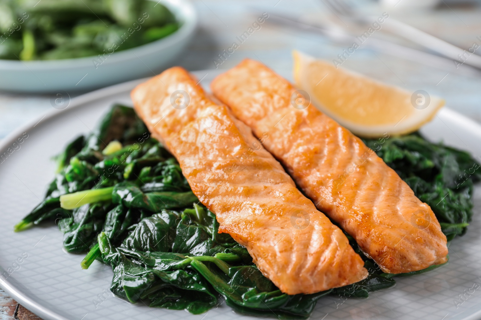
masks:
{"label": "grilled salmon fillet on the left, farther from the lemon wedge", "polygon": [[290,295],[366,278],[364,261],[341,229],[297,190],[250,128],[196,83],[175,67],[131,96],[152,136],[174,154],[192,191],[215,213],[219,232],[245,246],[259,270]]}

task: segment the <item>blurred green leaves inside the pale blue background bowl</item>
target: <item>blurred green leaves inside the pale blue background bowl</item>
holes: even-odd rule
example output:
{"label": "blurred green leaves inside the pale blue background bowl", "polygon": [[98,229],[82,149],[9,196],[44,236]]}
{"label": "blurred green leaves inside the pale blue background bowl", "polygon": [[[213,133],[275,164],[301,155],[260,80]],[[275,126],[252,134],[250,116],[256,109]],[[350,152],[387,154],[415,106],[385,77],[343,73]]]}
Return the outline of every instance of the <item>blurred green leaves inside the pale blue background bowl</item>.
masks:
{"label": "blurred green leaves inside the pale blue background bowl", "polygon": [[0,59],[101,59],[179,26],[169,9],[149,0],[0,0],[0,11]]}

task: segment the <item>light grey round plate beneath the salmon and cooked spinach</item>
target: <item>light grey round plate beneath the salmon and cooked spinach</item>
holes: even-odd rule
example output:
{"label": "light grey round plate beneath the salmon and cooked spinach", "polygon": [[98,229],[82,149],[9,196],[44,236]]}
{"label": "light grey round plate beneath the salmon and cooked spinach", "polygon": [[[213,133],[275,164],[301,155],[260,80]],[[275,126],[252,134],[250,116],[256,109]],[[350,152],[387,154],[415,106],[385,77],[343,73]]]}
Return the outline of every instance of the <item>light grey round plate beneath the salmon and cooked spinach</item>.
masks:
{"label": "light grey round plate beneath the salmon and cooked spinach", "polygon": [[[194,73],[199,79],[207,73],[202,81],[207,87],[218,71]],[[93,129],[114,102],[131,104],[129,92],[142,81],[79,96],[66,109],[52,110],[0,143],[0,154],[17,149],[0,164],[0,272],[5,275],[0,285],[45,320],[258,319],[234,314],[225,304],[202,315],[148,308],[141,302],[132,305],[109,292],[110,267],[95,261],[89,270],[80,269],[83,255],[63,251],[62,233],[55,226],[13,232],[13,225],[42,200],[55,169],[51,157],[78,134]],[[450,109],[442,109],[422,131],[433,141],[443,140],[481,156],[481,126]],[[28,135],[24,142],[13,145],[24,133]],[[448,265],[397,278],[395,287],[371,293],[367,299],[321,298],[311,319],[481,319],[481,198],[477,189],[473,223],[465,236],[452,242]],[[28,257],[22,260],[22,254]],[[16,262],[19,257],[22,263]],[[473,285],[477,289],[471,289]],[[459,294],[464,295],[462,300]]]}

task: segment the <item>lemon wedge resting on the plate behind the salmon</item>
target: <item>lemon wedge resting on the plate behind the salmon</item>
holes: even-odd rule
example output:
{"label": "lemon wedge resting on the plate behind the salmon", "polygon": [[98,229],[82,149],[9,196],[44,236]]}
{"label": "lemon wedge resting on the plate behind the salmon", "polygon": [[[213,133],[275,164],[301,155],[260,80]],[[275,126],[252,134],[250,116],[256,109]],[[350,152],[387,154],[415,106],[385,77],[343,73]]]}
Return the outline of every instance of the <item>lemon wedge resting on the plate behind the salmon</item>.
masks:
{"label": "lemon wedge resting on the plate behind the salmon", "polygon": [[410,92],[294,51],[294,80],[316,107],[356,135],[375,138],[418,130],[444,100]]}

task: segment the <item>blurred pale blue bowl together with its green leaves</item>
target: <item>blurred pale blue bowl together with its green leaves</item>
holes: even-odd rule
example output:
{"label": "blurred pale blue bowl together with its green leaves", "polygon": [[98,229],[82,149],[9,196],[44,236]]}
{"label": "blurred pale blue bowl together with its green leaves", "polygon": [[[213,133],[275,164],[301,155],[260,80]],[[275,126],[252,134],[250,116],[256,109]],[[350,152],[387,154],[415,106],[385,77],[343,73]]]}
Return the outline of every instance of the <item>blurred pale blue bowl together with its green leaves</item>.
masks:
{"label": "blurred pale blue bowl together with its green leaves", "polygon": [[0,90],[70,95],[152,76],[196,25],[189,0],[0,0]]}

